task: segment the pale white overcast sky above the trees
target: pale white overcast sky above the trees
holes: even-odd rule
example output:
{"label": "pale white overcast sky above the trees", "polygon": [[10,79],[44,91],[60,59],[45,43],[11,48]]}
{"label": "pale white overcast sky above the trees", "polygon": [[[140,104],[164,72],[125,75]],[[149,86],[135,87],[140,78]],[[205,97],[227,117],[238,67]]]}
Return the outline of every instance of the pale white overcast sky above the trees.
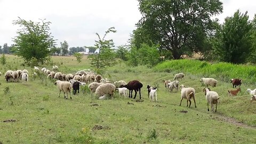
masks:
{"label": "pale white overcast sky above the trees", "polygon": [[[217,18],[221,22],[239,9],[248,11],[250,19],[256,13],[256,2],[251,0],[222,0],[223,13]],[[57,44],[67,41],[69,47],[93,46],[97,39],[110,27],[117,33],[108,35],[116,46],[127,44],[135,23],[141,18],[137,0],[73,0],[73,1],[33,1],[33,0],[0,0],[0,45],[13,44],[18,26],[12,24],[18,17],[25,20],[39,21],[46,19],[52,36],[58,39]]]}

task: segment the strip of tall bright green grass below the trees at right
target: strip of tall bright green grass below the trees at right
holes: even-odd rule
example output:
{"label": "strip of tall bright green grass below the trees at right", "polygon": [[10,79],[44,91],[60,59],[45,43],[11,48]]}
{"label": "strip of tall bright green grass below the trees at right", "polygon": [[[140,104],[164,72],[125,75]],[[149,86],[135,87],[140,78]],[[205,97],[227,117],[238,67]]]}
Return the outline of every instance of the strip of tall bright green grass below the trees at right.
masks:
{"label": "strip of tall bright green grass below the trees at right", "polygon": [[242,78],[244,83],[256,82],[256,67],[247,65],[235,65],[227,62],[209,63],[199,60],[170,60],[164,61],[154,70],[175,73],[190,73],[202,77],[215,77],[223,82],[229,82],[230,78]]}

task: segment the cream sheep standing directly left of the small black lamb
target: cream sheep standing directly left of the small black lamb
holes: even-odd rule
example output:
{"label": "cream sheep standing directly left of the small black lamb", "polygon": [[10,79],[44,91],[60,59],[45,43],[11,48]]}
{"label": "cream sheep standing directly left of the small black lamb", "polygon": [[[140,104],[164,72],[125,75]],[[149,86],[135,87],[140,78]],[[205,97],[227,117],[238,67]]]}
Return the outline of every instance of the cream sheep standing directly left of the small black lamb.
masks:
{"label": "cream sheep standing directly left of the small black lamb", "polygon": [[[54,85],[58,85],[58,89],[59,91],[63,91],[64,92],[64,98],[68,99],[68,93],[71,93],[71,89],[72,89],[72,85],[69,82],[66,81],[55,81]],[[66,97],[66,93],[67,93],[67,97]],[[60,97],[60,93],[59,93],[59,97]],[[71,98],[71,94],[70,94],[70,99]]]}

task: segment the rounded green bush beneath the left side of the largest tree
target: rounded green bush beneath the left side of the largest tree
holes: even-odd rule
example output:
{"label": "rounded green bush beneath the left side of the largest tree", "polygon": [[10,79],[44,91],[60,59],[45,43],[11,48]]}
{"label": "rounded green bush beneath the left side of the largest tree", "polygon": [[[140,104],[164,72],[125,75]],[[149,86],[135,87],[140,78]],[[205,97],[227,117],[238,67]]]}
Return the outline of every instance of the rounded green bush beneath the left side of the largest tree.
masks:
{"label": "rounded green bush beneath the left side of the largest tree", "polygon": [[131,66],[146,65],[153,67],[159,62],[158,45],[149,46],[142,44],[140,49],[131,47],[128,64]]}

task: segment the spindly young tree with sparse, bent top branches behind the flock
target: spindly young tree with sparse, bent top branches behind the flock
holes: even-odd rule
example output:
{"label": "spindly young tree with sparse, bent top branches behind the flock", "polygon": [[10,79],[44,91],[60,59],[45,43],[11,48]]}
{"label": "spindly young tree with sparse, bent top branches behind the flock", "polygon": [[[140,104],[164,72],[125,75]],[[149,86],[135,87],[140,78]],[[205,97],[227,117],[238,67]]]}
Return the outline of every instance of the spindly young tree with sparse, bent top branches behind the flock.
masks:
{"label": "spindly young tree with sparse, bent top branches behind the flock", "polygon": [[95,47],[99,49],[98,54],[90,54],[89,59],[91,61],[91,65],[94,68],[97,69],[104,69],[106,67],[113,66],[115,64],[115,52],[114,52],[114,42],[113,39],[105,39],[107,34],[109,33],[116,33],[116,30],[114,27],[109,28],[107,31],[105,31],[105,35],[103,38],[100,37],[98,33],[96,35],[98,36],[99,40],[95,41]]}

